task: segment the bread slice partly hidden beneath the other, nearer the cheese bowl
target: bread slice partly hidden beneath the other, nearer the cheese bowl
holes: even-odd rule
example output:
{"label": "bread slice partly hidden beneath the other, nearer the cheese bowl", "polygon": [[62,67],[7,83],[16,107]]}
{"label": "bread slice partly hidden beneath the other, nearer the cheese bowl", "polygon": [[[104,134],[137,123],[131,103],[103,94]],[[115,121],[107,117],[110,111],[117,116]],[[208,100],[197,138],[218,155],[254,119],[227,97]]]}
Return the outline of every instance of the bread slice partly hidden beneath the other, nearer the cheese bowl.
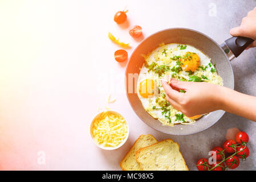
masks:
{"label": "bread slice partly hidden beneath the other, nearer the cheese bowl", "polygon": [[157,140],[152,135],[140,135],[140,137],[133,143],[131,149],[127,152],[120,162],[120,167],[123,171],[140,171],[140,165],[136,161],[136,151],[140,148],[151,146]]}

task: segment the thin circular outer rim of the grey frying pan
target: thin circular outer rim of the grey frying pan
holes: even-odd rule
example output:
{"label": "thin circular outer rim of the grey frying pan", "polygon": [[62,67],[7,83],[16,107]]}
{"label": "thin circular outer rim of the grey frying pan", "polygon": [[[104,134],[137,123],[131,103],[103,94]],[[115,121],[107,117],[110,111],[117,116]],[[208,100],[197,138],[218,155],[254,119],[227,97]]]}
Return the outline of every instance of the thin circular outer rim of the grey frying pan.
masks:
{"label": "thin circular outer rim of the grey frying pan", "polygon": [[[143,44],[147,39],[151,38],[152,36],[154,36],[154,35],[156,35],[156,34],[159,34],[160,32],[164,32],[164,31],[168,31],[168,30],[188,30],[188,31],[193,31],[193,32],[196,32],[196,33],[198,33],[198,34],[201,34],[201,35],[205,36],[206,38],[208,38],[209,40],[211,40],[214,44],[216,44],[216,46],[218,46],[218,47],[221,49],[222,53],[225,55],[226,60],[229,62],[229,67],[230,67],[230,69],[231,69],[231,74],[232,74],[232,78],[233,78],[233,79],[232,79],[232,82],[231,82],[231,87],[230,87],[230,88],[234,90],[234,72],[233,72],[233,68],[232,68],[232,65],[231,65],[231,63],[230,63],[229,58],[227,57],[225,51],[221,48],[220,44],[218,44],[215,40],[213,40],[212,38],[210,38],[208,35],[205,35],[205,34],[203,34],[202,32],[197,31],[197,30],[193,30],[193,29],[190,29],[190,28],[181,28],[181,27],[166,28],[166,29],[164,29],[164,30],[157,31],[157,32],[155,32],[155,33],[153,33],[153,34],[147,36],[147,38],[145,38],[144,40],[142,40],[142,41],[140,42],[140,44],[137,45],[137,47],[133,50],[132,55],[129,57],[129,60],[128,60],[127,65],[126,65],[126,67],[125,67],[125,78],[124,78],[124,79],[125,79],[125,83],[124,83],[124,84],[125,84],[126,96],[127,96],[127,99],[128,99],[128,101],[129,101],[129,104],[131,105],[133,111],[135,111],[137,117],[139,117],[139,118],[141,119],[141,121],[143,121],[143,119],[140,117],[139,114],[137,114],[137,111],[133,108],[133,105],[132,105],[132,103],[131,103],[131,101],[130,101],[130,99],[129,99],[128,92],[127,92],[127,71],[128,71],[128,65],[129,65],[129,63],[130,63],[130,61],[131,61],[131,57],[132,57],[133,54],[136,52],[136,50],[140,47],[141,44]],[[148,124],[147,122],[145,122],[145,121],[143,121],[143,122],[144,122],[145,124],[147,124],[148,126],[150,126],[152,129],[155,129],[155,130],[157,130],[157,131],[160,131],[161,133],[165,133],[165,134],[169,134],[169,135],[176,135],[176,136],[193,135],[193,134],[197,134],[197,133],[200,133],[200,132],[202,132],[202,131],[205,131],[205,130],[209,129],[209,128],[212,127],[214,124],[216,124],[216,123],[223,117],[223,115],[226,113],[226,111],[224,111],[224,110],[218,110],[218,111],[220,111],[221,113],[219,113],[220,116],[219,116],[218,118],[216,118],[216,122],[212,123],[212,125],[207,126],[207,127],[206,127],[205,129],[203,129],[203,130],[194,131],[194,132],[191,132],[191,133],[188,133],[188,134],[170,134],[170,133],[167,133],[167,132],[165,132],[165,131],[160,131],[159,129],[156,129],[155,127],[149,125],[149,124]]]}

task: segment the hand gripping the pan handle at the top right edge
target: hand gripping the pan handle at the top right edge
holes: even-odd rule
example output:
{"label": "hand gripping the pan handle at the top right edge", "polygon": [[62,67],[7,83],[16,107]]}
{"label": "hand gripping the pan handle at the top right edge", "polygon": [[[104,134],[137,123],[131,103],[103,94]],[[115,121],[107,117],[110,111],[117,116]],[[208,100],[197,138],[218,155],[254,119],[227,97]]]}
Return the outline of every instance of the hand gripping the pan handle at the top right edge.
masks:
{"label": "hand gripping the pan handle at the top right edge", "polygon": [[239,27],[230,30],[232,36],[245,36],[254,40],[246,49],[256,47],[256,7],[249,11],[247,16],[242,19]]}

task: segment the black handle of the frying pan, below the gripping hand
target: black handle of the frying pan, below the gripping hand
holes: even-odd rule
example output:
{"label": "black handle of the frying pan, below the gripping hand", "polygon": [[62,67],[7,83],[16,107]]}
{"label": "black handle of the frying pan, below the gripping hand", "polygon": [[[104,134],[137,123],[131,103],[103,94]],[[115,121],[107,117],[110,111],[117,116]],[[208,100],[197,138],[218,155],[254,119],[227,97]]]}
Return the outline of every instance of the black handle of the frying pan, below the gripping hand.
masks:
{"label": "black handle of the frying pan, below the gripping hand", "polygon": [[252,42],[253,39],[243,36],[233,36],[225,41],[235,57],[238,57]]}

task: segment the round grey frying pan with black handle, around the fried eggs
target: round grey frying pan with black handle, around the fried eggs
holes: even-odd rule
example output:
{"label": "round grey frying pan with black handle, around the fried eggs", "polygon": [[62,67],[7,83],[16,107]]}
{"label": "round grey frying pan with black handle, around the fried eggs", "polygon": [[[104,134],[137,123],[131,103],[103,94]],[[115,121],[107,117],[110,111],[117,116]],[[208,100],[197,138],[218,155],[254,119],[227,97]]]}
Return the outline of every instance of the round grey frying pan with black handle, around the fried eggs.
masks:
{"label": "round grey frying pan with black handle, around the fried eggs", "polygon": [[222,77],[224,86],[234,89],[234,74],[230,60],[239,56],[251,42],[253,42],[253,39],[250,38],[231,37],[225,43],[218,45],[209,36],[188,28],[169,28],[148,36],[135,48],[125,70],[125,88],[132,109],[143,122],[162,133],[190,135],[208,129],[224,115],[224,110],[213,111],[198,119],[194,125],[178,124],[174,125],[174,127],[162,125],[160,121],[152,118],[144,110],[136,93],[136,77],[139,76],[140,68],[145,61],[141,55],[147,55],[153,49],[159,47],[160,43],[188,44],[208,55],[212,59],[212,63],[216,63],[216,70],[218,75]]}

